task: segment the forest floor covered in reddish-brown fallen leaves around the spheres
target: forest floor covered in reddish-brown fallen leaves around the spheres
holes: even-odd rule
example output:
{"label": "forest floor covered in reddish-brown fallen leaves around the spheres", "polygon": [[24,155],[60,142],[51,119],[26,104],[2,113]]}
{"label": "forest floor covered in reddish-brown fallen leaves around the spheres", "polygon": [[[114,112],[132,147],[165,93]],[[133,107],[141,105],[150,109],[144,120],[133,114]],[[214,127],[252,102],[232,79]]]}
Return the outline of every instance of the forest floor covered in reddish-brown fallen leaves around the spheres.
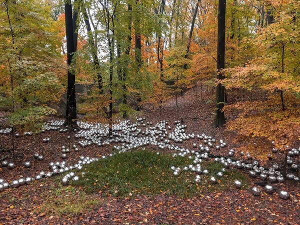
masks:
{"label": "forest floor covered in reddish-brown fallen leaves around the spheres", "polygon": [[[175,98],[159,108],[145,107],[140,113],[146,121],[161,120],[172,123],[186,117],[186,133],[205,133],[215,139],[223,139],[228,147],[217,152],[225,155],[228,149],[238,144],[232,143],[234,133],[223,128],[213,129],[213,91],[206,87],[202,93],[193,89],[183,96],[178,96],[178,107]],[[235,98],[228,95],[228,101]],[[240,97],[253,97],[239,94]],[[255,97],[255,96],[254,96]],[[263,97],[263,96],[259,96]],[[160,112],[159,112],[160,111]],[[235,114],[227,114],[228,120]],[[1,123],[1,121],[0,121]],[[8,170],[0,168],[0,178],[12,180],[32,176],[40,170],[46,171],[50,161],[60,160],[62,145],[68,145],[68,133],[47,131],[41,134],[49,137],[50,143],[42,143],[44,160],[32,160],[32,155],[38,150],[38,139],[35,136],[16,138],[16,168]],[[10,146],[10,136],[0,134],[0,144],[3,149]],[[71,138],[70,143],[77,140]],[[180,146],[192,148],[194,141],[184,141]],[[87,146],[78,152],[72,151],[72,156],[65,159],[67,163],[75,163],[79,156],[100,157],[112,151],[111,145]],[[5,155],[1,152],[1,156]],[[22,162],[31,161],[31,168],[24,170]],[[9,160],[9,157],[8,159]],[[298,160],[298,158],[297,158]],[[280,164],[283,155],[278,153],[268,164]],[[245,171],[241,170],[241,173]],[[248,186],[254,186],[257,179],[250,179]],[[298,183],[285,182],[276,184],[280,189],[290,193],[288,200],[279,198],[277,193],[253,196],[249,189],[227,189],[223,191],[202,190],[193,197],[178,197],[161,192],[154,195],[136,194],[127,197],[116,197],[103,194],[101,191],[85,193],[80,188],[61,186],[57,177],[34,181],[29,185],[9,188],[0,192],[0,224],[300,224],[300,188]]]}

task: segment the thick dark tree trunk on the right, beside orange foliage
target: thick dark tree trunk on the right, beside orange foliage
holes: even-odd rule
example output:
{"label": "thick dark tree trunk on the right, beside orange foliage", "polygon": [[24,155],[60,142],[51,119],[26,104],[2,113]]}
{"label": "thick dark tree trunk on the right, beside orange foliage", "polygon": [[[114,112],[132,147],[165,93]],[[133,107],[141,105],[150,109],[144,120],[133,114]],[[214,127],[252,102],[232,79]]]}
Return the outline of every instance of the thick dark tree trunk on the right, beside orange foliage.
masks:
{"label": "thick dark tree trunk on the right, beside orange foliage", "polygon": [[[226,0],[219,0],[218,2],[218,19],[217,19],[217,79],[224,79],[222,69],[225,66],[225,11]],[[224,91],[225,87],[218,83],[215,90],[216,109],[212,127],[220,127],[225,124],[225,116],[222,108],[224,106]]]}

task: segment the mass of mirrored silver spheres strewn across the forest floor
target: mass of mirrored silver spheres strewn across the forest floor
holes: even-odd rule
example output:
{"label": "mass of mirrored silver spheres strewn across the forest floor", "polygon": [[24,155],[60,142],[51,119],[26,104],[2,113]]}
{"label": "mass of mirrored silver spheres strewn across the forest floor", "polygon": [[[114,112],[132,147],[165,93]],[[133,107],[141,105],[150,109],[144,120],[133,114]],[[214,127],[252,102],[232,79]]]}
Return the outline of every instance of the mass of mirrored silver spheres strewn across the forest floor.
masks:
{"label": "mass of mirrored silver spheres strewn across the forest floor", "polygon": [[[227,146],[226,142],[222,139],[216,140],[210,135],[202,134],[194,134],[194,133],[186,133],[186,125],[181,124],[179,120],[174,122],[174,128],[168,124],[167,121],[159,121],[156,124],[152,124],[151,122],[145,122],[145,118],[136,118],[135,122],[130,122],[130,120],[122,120],[117,121],[112,125],[112,135],[109,135],[109,125],[103,123],[88,123],[78,121],[79,130],[76,131],[75,137],[78,138],[78,144],[81,147],[86,147],[90,145],[103,146],[108,144],[113,144],[113,149],[115,152],[122,153],[128,150],[135,149],[137,147],[145,147],[147,145],[156,146],[158,149],[170,149],[174,150],[174,157],[188,157],[193,160],[193,164],[180,167],[172,166],[174,175],[178,175],[181,169],[183,170],[191,170],[195,173],[195,182],[200,182],[200,176],[210,175],[209,182],[214,184],[217,183],[217,179],[223,177],[223,172],[226,168],[235,167],[238,169],[247,169],[249,170],[249,175],[251,177],[260,178],[262,180],[267,180],[270,183],[274,182],[282,182],[284,180],[283,175],[279,171],[279,166],[274,164],[270,168],[264,168],[259,166],[258,161],[253,161],[252,163],[245,163],[242,160],[233,160],[231,159],[234,155],[234,150],[230,149],[227,153],[227,156],[223,157],[215,157],[210,154],[211,149],[219,150],[221,148],[225,148]],[[48,130],[58,130],[60,132],[65,132],[68,129],[66,127],[61,127],[63,124],[63,120],[51,120],[43,124],[42,132]],[[0,133],[6,134],[10,133],[11,128],[1,129]],[[33,132],[24,132],[24,135],[32,135]],[[175,145],[176,143],[182,143],[186,140],[198,139],[201,141],[200,144],[193,143],[192,150],[179,147]],[[43,142],[49,142],[49,138],[43,138]],[[71,148],[74,151],[78,151],[78,147],[73,145],[72,147],[67,148],[66,146],[61,147],[61,158],[67,158],[67,154],[71,151]],[[272,149],[273,153],[278,152],[277,149]],[[240,155],[246,156],[247,159],[252,159],[251,155],[246,152],[240,152]],[[107,156],[112,156],[113,154],[109,154]],[[299,155],[299,149],[291,149],[288,152],[287,164],[291,167],[292,170],[298,170],[298,164],[295,160],[293,160],[294,156]],[[41,154],[35,153],[34,158],[42,160],[43,156]],[[107,157],[105,155],[102,158]],[[217,171],[215,174],[211,174],[207,169],[203,169],[201,167],[201,162],[203,160],[209,160],[213,158],[214,161],[218,161],[222,163],[223,168],[221,171]],[[27,177],[24,180],[22,178],[20,180],[13,180],[8,186],[16,187],[18,185],[22,185],[32,181],[33,179],[41,179],[43,177],[49,177],[55,174],[63,173],[69,170],[80,170],[84,164],[89,164],[92,161],[98,160],[98,158],[89,158],[89,157],[80,157],[80,160],[70,166],[66,166],[64,161],[62,162],[50,162],[49,163],[49,172],[41,171],[35,177],[30,178]],[[8,168],[13,168],[14,164],[12,162],[2,161],[2,166],[7,166]],[[31,166],[30,161],[24,162],[24,167],[29,168]],[[298,181],[299,177],[297,177],[293,173],[287,174],[287,179]],[[76,176],[73,172],[67,173],[62,179],[61,184],[67,185],[69,180],[78,180],[79,177]],[[270,184],[268,184],[270,185]],[[240,180],[235,180],[233,183],[235,188],[240,188],[242,183]],[[272,185],[270,185],[272,186]],[[265,191],[267,193],[272,192],[272,188],[270,186],[265,187]],[[258,187],[252,188],[252,193],[254,195],[260,194],[260,189]],[[283,199],[286,199],[286,191],[279,191],[279,196]],[[288,195],[288,193],[287,193]],[[288,198],[288,197],[287,197]]]}

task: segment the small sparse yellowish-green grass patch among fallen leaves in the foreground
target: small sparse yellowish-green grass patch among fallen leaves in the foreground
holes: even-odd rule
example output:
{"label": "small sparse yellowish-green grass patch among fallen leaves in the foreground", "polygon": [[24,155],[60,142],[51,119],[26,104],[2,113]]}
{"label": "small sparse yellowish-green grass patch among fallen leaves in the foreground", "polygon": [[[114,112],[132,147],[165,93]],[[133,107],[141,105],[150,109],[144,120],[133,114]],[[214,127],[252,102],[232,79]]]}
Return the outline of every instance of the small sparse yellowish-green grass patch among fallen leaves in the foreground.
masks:
{"label": "small sparse yellowish-green grass patch among fallen leaves in the foreground", "polygon": [[36,211],[38,214],[71,217],[83,214],[101,203],[101,200],[95,199],[83,191],[78,191],[72,186],[53,188],[50,193]]}

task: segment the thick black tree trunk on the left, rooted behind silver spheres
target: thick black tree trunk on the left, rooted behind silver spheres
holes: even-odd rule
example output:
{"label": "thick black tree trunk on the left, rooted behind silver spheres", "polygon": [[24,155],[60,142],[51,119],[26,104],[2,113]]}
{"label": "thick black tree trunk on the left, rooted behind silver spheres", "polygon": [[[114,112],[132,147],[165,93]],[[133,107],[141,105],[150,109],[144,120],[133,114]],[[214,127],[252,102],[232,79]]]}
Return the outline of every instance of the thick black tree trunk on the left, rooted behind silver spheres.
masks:
{"label": "thick black tree trunk on the left, rooted behind silver spheres", "polygon": [[[64,0],[65,12],[65,34],[67,65],[70,66],[74,53],[74,32],[72,20],[71,1]],[[75,95],[75,74],[68,68],[67,70],[67,92],[66,92],[66,111],[65,118],[70,119],[69,123],[74,126],[77,124],[76,95]]]}

